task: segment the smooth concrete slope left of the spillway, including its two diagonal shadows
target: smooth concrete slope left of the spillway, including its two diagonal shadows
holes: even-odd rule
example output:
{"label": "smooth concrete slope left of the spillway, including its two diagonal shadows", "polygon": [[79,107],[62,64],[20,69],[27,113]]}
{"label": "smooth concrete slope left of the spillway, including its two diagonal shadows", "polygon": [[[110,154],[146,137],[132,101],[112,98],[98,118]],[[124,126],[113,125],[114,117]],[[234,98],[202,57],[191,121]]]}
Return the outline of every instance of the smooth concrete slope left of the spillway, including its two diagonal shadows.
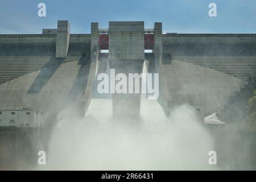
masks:
{"label": "smooth concrete slope left of the spillway, including its two diagonal shadows", "polygon": [[[84,109],[84,113],[90,103],[92,82],[97,67],[96,64],[91,65],[89,59],[81,60],[80,56],[68,56],[64,60],[68,59],[72,60],[1,84],[0,110],[22,110],[23,107],[27,107],[46,113],[47,121],[59,111],[67,107],[73,109],[73,106],[79,104],[79,109]],[[76,97],[69,102],[71,93]],[[84,98],[85,93],[88,97]]]}

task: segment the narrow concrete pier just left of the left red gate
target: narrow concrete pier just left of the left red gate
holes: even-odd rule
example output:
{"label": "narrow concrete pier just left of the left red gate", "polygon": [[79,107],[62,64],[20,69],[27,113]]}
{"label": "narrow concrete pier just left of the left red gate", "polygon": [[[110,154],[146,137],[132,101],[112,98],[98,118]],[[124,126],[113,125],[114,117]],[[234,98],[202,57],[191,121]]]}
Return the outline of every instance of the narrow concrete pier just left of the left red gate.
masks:
{"label": "narrow concrete pier just left of the left red gate", "polygon": [[90,24],[90,58],[96,60],[98,51],[98,23]]}

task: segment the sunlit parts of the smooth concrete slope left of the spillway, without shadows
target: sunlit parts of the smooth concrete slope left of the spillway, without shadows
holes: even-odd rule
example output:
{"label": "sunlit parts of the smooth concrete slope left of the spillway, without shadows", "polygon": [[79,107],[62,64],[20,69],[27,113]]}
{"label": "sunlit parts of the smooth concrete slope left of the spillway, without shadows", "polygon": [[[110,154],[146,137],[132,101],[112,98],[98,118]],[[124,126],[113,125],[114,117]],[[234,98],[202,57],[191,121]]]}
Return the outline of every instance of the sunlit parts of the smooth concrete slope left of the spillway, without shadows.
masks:
{"label": "sunlit parts of the smooth concrete slope left of the spillway, without shadows", "polygon": [[65,101],[71,91],[81,68],[79,58],[72,62],[60,64],[42,90],[38,93],[28,93],[35,80],[42,72],[49,72],[49,68],[43,68],[27,75],[20,76],[14,80],[0,85],[0,110],[22,110],[28,107],[40,110],[47,115],[55,114],[65,107]]}

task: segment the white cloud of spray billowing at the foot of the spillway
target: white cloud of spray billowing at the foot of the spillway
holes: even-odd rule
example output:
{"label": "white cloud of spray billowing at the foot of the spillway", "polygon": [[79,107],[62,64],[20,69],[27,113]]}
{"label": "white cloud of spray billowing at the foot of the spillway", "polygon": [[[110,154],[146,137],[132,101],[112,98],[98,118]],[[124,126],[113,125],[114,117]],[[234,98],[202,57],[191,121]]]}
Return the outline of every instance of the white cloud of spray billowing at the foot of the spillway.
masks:
{"label": "white cloud of spray billowing at the foot of the spillway", "polygon": [[[208,163],[213,141],[190,106],[166,118],[142,95],[141,124],[114,126],[112,101],[93,99],[84,119],[59,114],[49,143],[49,169],[217,169]],[[150,102],[150,104],[148,103]]]}

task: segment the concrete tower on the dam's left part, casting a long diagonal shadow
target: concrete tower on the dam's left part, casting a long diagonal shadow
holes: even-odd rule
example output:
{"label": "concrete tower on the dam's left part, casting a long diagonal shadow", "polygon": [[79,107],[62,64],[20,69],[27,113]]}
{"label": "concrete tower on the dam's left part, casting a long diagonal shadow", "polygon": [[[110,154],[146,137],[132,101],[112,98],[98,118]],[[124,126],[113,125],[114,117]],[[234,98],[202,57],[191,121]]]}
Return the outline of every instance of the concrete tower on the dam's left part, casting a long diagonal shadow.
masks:
{"label": "concrete tower on the dam's left part, casting a long diagonal shadow", "polygon": [[64,58],[68,55],[70,38],[70,24],[67,20],[58,20],[56,57]]}

